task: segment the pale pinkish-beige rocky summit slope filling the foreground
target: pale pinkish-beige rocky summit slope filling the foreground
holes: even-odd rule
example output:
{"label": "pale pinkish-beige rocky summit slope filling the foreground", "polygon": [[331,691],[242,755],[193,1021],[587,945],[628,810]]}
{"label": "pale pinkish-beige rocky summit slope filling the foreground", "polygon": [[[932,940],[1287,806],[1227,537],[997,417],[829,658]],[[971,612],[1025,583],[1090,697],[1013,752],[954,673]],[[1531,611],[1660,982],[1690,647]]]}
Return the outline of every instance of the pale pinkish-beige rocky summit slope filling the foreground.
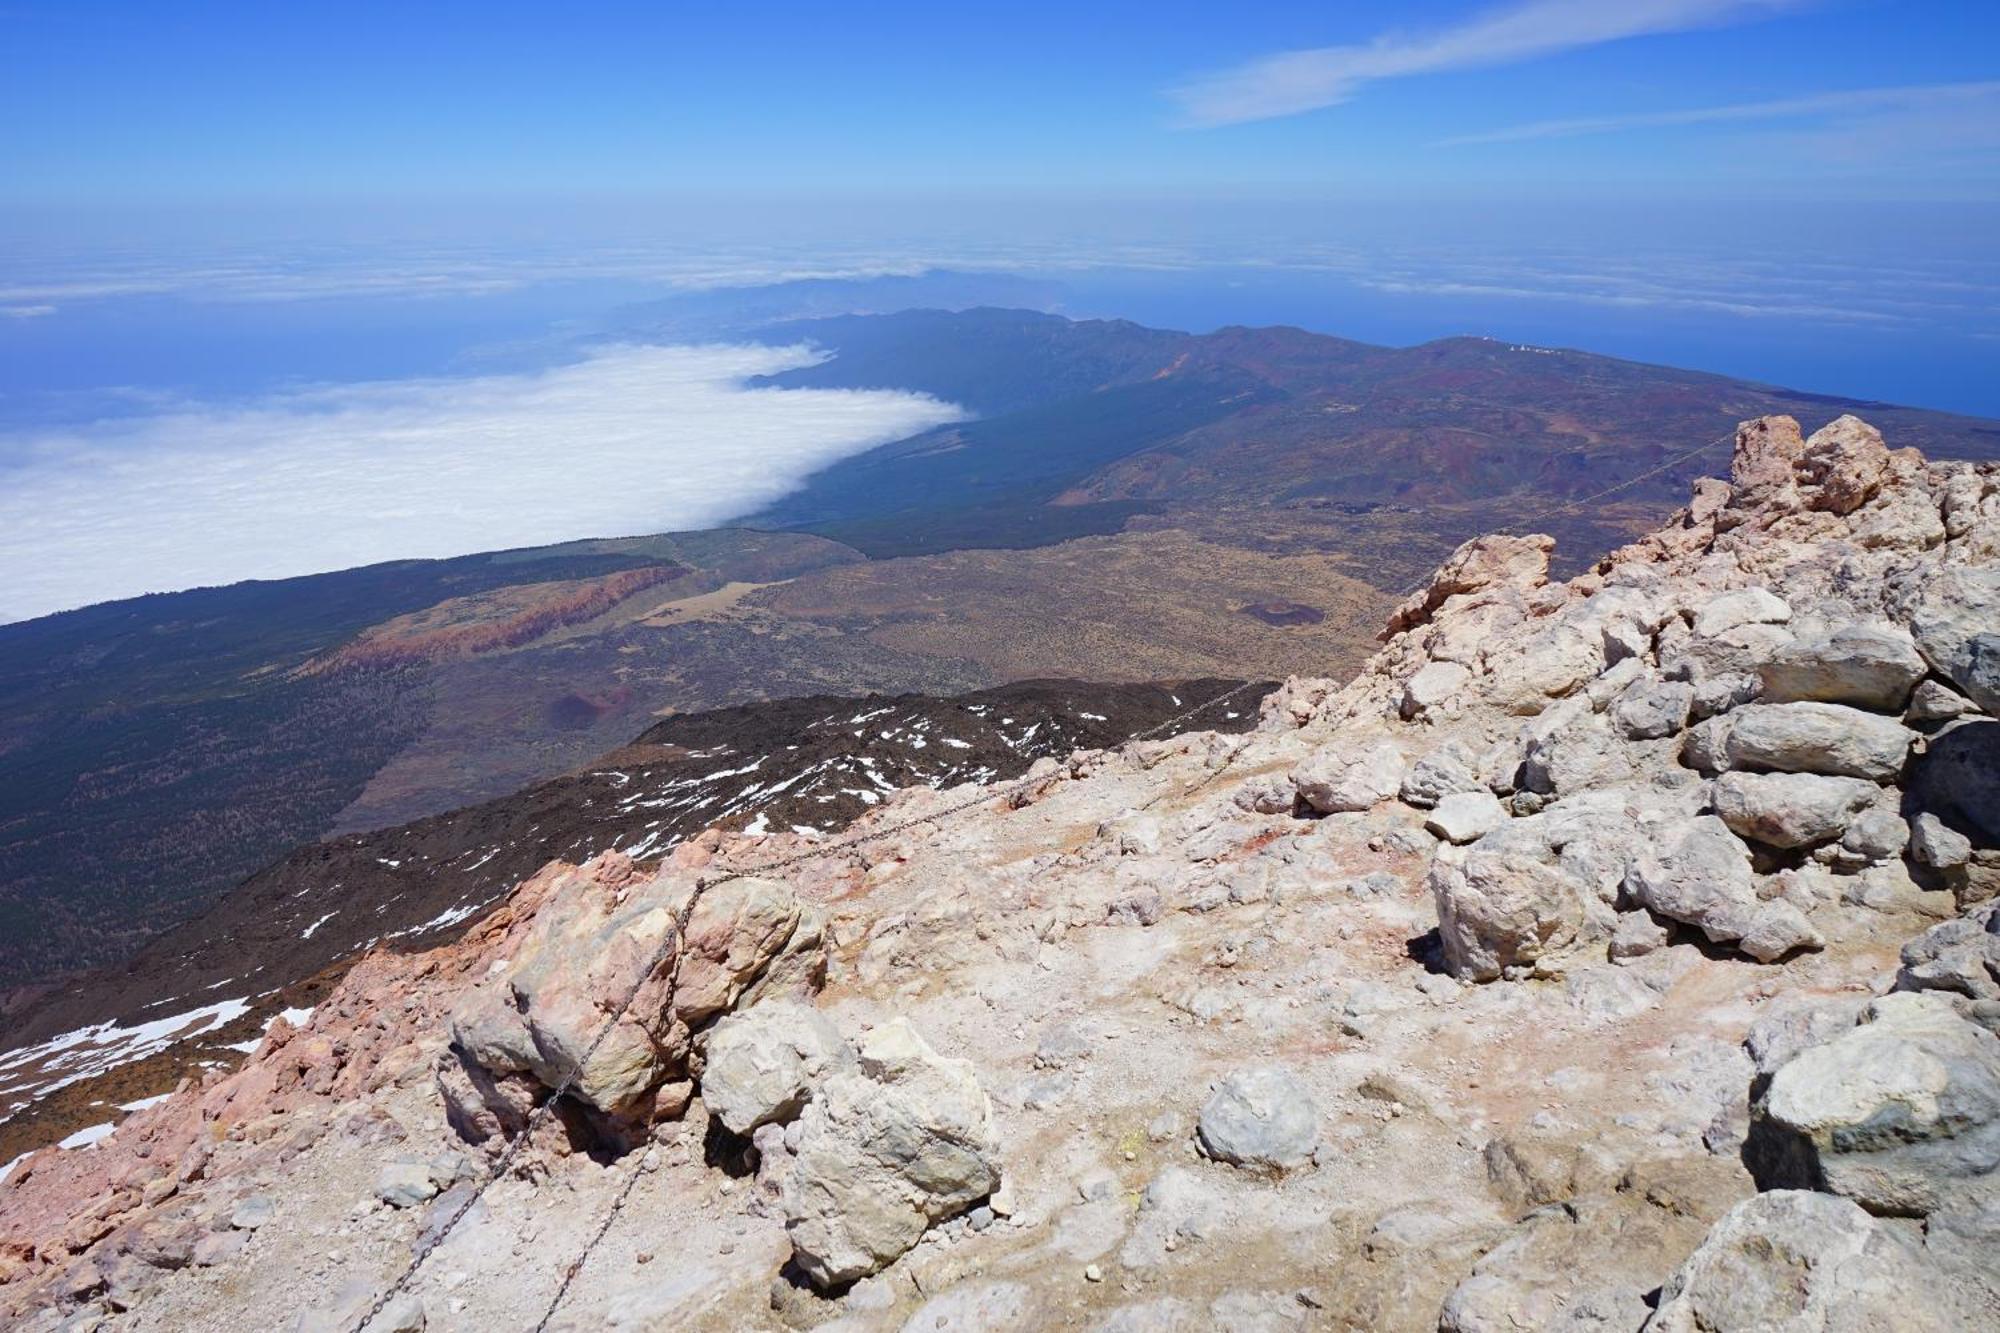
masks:
{"label": "pale pinkish-beige rocky summit slope filling the foreground", "polygon": [[422,1255],[368,1327],[2000,1327],[2000,468],[1766,416],[1550,548],[1246,735],[554,863],[16,1163],[0,1303],[352,1329]]}

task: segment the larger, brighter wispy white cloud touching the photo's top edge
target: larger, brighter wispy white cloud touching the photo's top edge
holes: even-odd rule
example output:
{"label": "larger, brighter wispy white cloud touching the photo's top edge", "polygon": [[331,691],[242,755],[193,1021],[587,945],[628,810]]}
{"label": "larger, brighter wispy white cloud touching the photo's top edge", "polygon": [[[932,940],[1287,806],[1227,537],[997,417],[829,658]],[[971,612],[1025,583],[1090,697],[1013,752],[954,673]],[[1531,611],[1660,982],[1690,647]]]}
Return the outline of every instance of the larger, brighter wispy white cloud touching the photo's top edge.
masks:
{"label": "larger, brighter wispy white cloud touching the photo's top edge", "polygon": [[1220,126],[1296,116],[1346,102],[1364,84],[1552,56],[1634,36],[1762,18],[1804,0],[1526,0],[1456,28],[1384,32],[1356,46],[1264,56],[1168,90],[1186,124]]}

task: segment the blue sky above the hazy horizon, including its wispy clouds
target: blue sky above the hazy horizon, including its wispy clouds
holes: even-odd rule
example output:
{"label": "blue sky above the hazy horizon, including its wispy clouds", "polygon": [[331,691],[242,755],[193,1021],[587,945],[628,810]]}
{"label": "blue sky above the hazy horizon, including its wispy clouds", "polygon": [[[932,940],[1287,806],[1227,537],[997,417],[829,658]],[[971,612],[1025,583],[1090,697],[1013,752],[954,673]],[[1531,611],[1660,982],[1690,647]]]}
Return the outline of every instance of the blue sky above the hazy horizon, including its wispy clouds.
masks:
{"label": "blue sky above the hazy horizon, including its wispy clouds", "polygon": [[1982,0],[72,0],[0,46],[0,206],[2000,184]]}

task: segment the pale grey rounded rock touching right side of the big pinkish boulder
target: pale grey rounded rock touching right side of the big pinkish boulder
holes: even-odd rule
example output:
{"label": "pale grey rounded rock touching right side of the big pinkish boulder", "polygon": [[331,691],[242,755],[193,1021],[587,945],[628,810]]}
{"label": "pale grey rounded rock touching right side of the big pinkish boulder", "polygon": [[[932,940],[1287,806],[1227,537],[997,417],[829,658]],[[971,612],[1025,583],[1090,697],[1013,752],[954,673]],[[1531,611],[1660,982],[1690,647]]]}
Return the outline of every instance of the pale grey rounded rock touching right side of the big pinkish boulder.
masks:
{"label": "pale grey rounded rock touching right side of the big pinkish boulder", "polygon": [[716,1019],[702,1067],[702,1105],[730,1133],[790,1121],[812,1083],[846,1057],[840,1031],[818,1009],[766,1001]]}

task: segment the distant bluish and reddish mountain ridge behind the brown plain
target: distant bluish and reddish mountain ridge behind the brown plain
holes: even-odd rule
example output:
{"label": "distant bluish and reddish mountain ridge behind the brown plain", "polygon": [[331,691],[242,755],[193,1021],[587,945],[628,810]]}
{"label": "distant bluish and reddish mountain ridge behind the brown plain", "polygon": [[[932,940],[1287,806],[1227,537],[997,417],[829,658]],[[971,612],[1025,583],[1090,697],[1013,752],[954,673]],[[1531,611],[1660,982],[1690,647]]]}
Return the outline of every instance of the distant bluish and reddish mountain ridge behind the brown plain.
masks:
{"label": "distant bluish and reddish mountain ridge behind the brown plain", "polygon": [[[1194,506],[1568,498],[1770,412],[1812,424],[1866,412],[1936,456],[2000,456],[1988,420],[1490,338],[1388,348],[1026,310],[802,320],[762,336],[834,352],[772,384],[918,388],[980,408],[972,424],[844,458],[748,518],[870,556],[1040,544]],[[1014,378],[1048,362],[1066,372]],[[1666,504],[1714,462],[1660,472],[1636,494]]]}

